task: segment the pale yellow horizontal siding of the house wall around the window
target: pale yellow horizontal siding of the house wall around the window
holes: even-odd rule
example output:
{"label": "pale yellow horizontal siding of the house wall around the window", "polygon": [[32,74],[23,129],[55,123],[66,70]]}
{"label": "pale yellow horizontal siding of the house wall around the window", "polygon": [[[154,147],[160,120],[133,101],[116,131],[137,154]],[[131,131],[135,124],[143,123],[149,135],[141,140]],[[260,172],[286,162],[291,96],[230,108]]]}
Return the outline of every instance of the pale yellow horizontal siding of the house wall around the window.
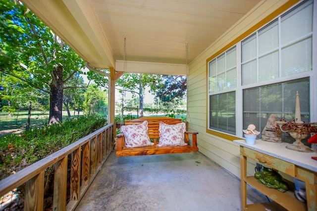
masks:
{"label": "pale yellow horizontal siding of the house wall around the window", "polygon": [[[214,135],[207,132],[208,93],[206,62],[232,45],[246,38],[263,25],[279,16],[298,0],[263,0],[220,36],[189,65],[188,117],[189,129],[197,131],[199,151],[230,173],[240,177],[240,149],[229,135]],[[190,47],[190,46],[189,46]],[[220,133],[215,133],[220,134]],[[229,138],[227,138],[229,137]],[[226,139],[225,139],[226,138]],[[254,174],[254,161],[248,162],[249,175]]]}

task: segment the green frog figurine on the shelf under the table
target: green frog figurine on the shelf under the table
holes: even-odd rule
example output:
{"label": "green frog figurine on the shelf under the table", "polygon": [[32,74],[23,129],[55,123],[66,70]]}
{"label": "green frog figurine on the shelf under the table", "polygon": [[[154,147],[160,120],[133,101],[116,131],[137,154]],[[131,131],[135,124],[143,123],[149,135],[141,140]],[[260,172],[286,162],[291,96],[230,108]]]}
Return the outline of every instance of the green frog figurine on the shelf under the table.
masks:
{"label": "green frog figurine on the shelf under the table", "polygon": [[267,188],[274,188],[282,193],[288,190],[288,184],[283,181],[281,174],[274,169],[262,166],[260,172],[256,172],[254,176],[258,179],[258,182],[264,184]]}

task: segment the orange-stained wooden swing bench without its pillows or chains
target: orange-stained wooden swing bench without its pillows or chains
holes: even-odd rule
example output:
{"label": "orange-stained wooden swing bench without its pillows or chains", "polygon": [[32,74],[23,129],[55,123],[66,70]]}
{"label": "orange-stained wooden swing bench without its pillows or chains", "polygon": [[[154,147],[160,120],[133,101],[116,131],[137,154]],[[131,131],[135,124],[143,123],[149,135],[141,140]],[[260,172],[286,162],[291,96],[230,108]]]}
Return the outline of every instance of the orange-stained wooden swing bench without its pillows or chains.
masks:
{"label": "orange-stained wooden swing bench without its pillows or chains", "polygon": [[[167,125],[176,125],[182,123],[181,119],[174,119],[168,117],[143,117],[134,120],[126,120],[125,126],[127,125],[140,125],[144,121],[148,121],[148,135],[151,140],[153,140],[154,145],[152,146],[142,146],[135,148],[127,148],[124,140],[124,134],[120,133],[117,135],[117,157],[122,156],[140,156],[140,155],[158,155],[158,154],[172,154],[172,153],[189,153],[193,151],[198,151],[197,147],[197,134],[198,132],[188,132],[184,133],[184,141],[187,145],[182,146],[158,146],[159,143],[159,122]],[[186,126],[187,130],[187,126]],[[192,140],[189,139],[190,135]],[[191,144],[190,144],[191,143]]]}

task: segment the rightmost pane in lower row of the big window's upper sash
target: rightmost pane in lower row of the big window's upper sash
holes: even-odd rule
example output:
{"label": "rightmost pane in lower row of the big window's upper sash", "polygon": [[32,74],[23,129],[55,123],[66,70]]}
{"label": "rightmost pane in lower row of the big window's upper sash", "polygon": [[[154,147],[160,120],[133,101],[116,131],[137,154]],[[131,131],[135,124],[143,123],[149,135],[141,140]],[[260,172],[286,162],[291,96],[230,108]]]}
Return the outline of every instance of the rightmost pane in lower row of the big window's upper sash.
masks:
{"label": "rightmost pane in lower row of the big window's upper sash", "polygon": [[282,76],[312,70],[312,38],[282,49]]}

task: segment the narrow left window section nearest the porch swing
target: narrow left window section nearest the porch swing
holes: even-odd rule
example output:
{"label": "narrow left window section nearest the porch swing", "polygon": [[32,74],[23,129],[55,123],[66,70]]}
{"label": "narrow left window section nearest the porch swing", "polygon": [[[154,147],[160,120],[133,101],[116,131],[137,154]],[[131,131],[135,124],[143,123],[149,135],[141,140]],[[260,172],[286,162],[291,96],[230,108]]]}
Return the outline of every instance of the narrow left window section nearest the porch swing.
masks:
{"label": "narrow left window section nearest the porch swing", "polygon": [[236,58],[234,46],[209,63],[210,128],[230,134],[236,131],[236,102],[235,91],[227,91],[237,86]]}

